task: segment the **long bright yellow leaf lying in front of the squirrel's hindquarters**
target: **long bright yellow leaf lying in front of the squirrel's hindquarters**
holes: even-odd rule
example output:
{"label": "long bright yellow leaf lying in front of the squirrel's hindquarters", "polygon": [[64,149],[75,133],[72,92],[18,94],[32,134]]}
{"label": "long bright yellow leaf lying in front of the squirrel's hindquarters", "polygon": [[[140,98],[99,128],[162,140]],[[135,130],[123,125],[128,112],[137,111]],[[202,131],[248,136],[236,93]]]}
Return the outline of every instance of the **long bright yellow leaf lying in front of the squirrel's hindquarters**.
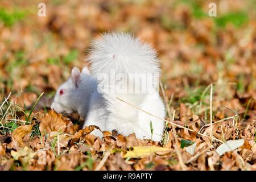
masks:
{"label": "long bright yellow leaf lying in front of the squirrel's hindquarters", "polygon": [[168,154],[171,152],[169,148],[157,146],[138,146],[133,147],[133,150],[127,151],[123,158],[143,158],[151,154]]}

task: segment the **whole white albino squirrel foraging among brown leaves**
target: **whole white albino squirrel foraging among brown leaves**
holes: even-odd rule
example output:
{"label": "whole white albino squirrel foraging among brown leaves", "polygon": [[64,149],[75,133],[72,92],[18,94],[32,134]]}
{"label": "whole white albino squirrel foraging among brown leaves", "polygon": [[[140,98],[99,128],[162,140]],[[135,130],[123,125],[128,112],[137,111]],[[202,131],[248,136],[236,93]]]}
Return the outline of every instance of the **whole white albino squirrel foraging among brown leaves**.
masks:
{"label": "whole white albino squirrel foraging among brown leaves", "polygon": [[[166,113],[158,93],[160,69],[154,49],[129,34],[104,34],[93,41],[88,60],[91,73],[86,67],[81,72],[73,68],[51,108],[57,113],[77,111],[85,118],[84,127],[96,125],[102,131],[160,141]],[[92,134],[102,137],[98,130]]]}

